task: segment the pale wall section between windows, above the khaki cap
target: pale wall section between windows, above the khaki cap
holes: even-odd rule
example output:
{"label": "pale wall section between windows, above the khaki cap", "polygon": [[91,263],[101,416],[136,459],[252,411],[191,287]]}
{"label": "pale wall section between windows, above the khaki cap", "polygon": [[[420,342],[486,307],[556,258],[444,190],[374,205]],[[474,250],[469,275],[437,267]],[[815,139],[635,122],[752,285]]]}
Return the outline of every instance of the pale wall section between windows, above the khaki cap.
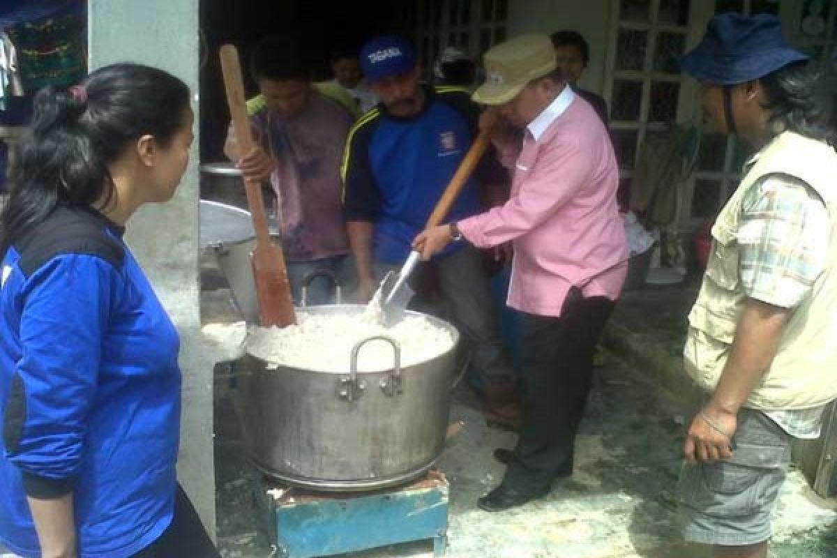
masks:
{"label": "pale wall section between windows, above the khaki cap", "polygon": [[509,37],[551,34],[562,29],[581,33],[590,44],[590,64],[581,86],[601,93],[610,28],[610,0],[511,0]]}

